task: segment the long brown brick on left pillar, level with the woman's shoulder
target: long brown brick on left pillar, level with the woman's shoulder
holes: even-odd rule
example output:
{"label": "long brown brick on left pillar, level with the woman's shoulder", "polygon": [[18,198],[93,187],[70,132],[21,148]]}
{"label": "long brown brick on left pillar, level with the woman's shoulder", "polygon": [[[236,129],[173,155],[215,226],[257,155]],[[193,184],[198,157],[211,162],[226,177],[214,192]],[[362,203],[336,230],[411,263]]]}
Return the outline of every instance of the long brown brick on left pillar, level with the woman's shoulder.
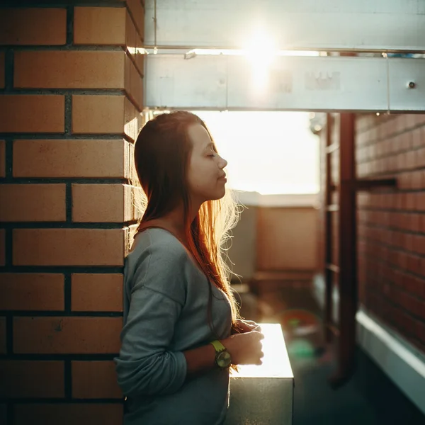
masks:
{"label": "long brown brick on left pillar, level with the woman's shoulder", "polygon": [[15,266],[123,266],[123,229],[13,229]]}

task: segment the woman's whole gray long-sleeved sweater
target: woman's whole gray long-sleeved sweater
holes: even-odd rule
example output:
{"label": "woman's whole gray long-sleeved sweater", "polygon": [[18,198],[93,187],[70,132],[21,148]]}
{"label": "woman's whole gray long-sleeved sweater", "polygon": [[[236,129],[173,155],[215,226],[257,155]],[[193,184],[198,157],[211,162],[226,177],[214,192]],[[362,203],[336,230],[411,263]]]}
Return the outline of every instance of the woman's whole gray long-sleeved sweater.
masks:
{"label": "woman's whole gray long-sleeved sweater", "polygon": [[[229,372],[186,379],[183,351],[208,344],[208,285],[186,248],[164,229],[147,229],[125,259],[124,326],[115,358],[125,425],[218,425],[229,404]],[[212,286],[220,339],[231,332],[229,301]]]}

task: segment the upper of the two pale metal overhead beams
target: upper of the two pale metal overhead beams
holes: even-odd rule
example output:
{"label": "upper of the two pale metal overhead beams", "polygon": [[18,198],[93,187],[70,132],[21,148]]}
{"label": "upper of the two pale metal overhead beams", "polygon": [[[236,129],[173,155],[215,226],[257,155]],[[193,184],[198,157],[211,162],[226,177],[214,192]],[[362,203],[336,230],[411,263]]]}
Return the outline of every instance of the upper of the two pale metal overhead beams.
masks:
{"label": "upper of the two pale metal overhead beams", "polygon": [[[156,25],[155,25],[156,23]],[[145,0],[145,45],[425,52],[425,1]]]}

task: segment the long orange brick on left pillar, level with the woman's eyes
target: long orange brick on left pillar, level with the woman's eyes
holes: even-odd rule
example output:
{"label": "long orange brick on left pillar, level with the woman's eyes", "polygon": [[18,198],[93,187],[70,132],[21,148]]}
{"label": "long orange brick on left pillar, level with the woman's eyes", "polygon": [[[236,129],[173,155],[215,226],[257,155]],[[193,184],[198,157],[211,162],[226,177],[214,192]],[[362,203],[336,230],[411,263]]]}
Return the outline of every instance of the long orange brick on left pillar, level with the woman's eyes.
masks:
{"label": "long orange brick on left pillar, level with the woman's eyes", "polygon": [[15,140],[13,177],[125,178],[123,140]]}

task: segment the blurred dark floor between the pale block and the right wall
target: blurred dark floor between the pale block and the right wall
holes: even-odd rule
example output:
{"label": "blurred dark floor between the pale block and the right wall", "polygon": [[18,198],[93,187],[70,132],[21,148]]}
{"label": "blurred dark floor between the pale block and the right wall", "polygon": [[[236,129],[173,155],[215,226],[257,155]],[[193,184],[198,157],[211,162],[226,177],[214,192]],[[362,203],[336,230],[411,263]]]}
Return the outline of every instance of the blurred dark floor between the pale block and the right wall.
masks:
{"label": "blurred dark floor between the pale block and the right wall", "polygon": [[[322,313],[309,288],[271,285],[269,290],[244,298],[241,313],[246,319],[282,325],[295,376],[293,425],[425,424],[421,421],[424,416],[402,399],[404,396],[360,350],[362,366],[355,376],[337,390],[330,387],[327,380],[336,367],[335,349],[324,344]],[[370,382],[368,377],[372,376]],[[392,414],[390,399],[404,410]]]}

